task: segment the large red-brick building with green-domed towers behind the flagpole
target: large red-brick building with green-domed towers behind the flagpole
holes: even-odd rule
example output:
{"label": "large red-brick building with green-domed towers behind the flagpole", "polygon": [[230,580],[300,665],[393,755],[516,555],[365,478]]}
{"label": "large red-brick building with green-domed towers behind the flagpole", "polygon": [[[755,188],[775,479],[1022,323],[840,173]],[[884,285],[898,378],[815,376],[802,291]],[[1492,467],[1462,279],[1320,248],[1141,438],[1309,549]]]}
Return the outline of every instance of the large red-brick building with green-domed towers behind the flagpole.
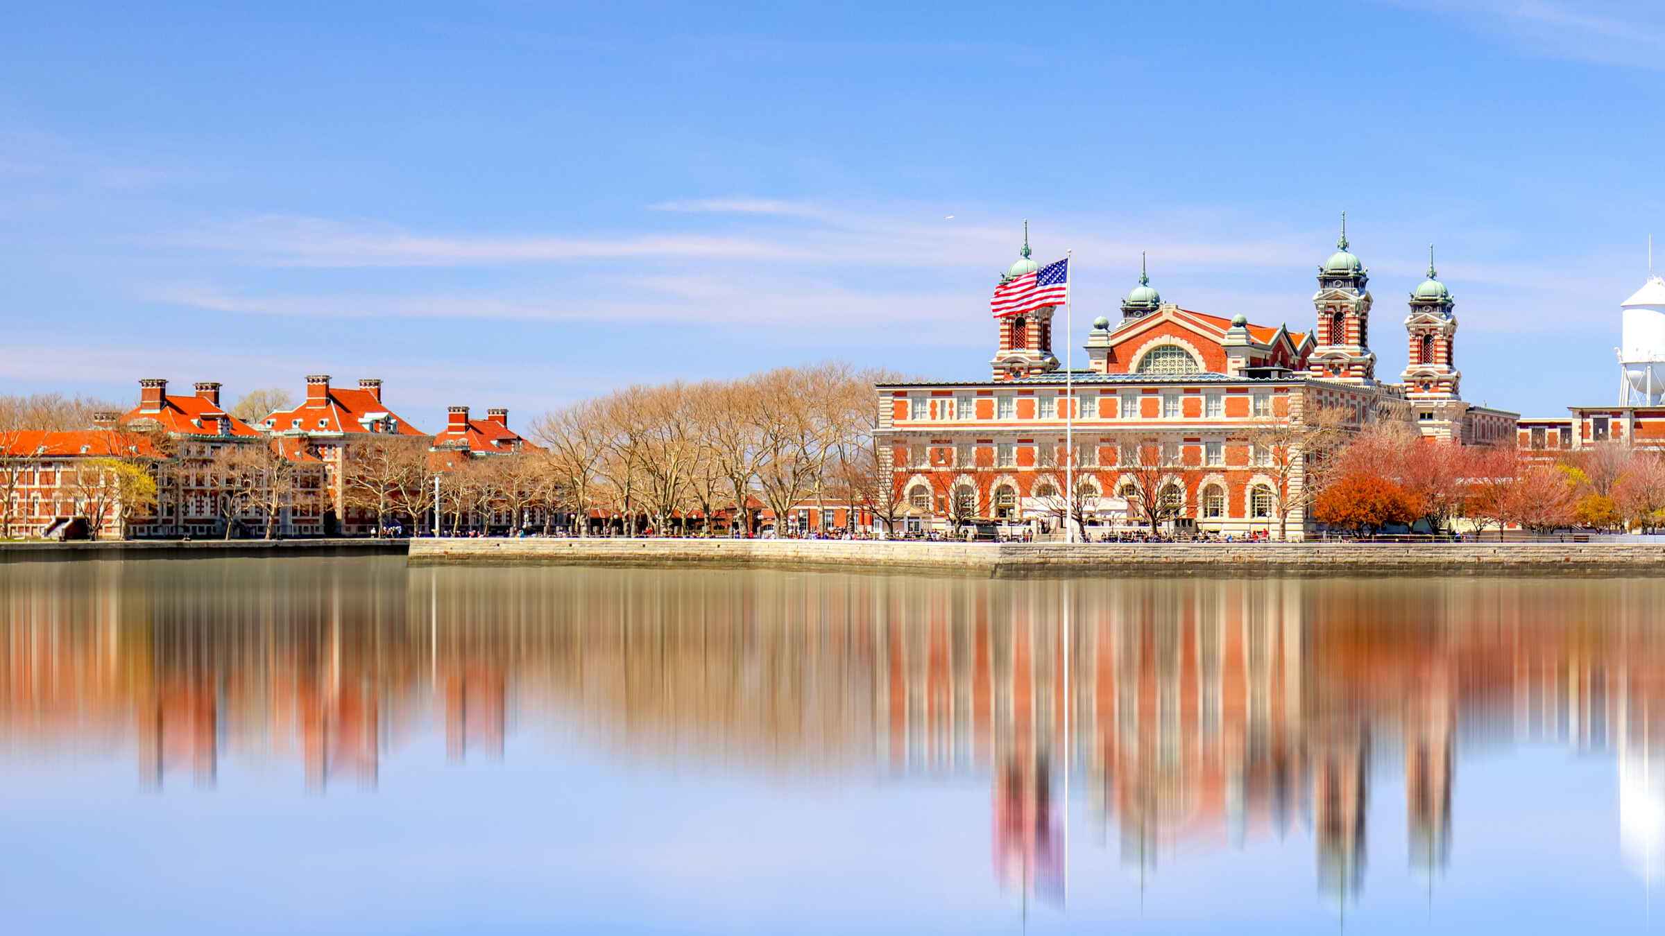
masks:
{"label": "large red-brick building with green-domed towers behind the flagpole", "polygon": [[[1006,276],[1036,270],[1026,240]],[[1517,413],[1460,395],[1455,301],[1432,260],[1425,280],[1407,283],[1400,335],[1410,363],[1397,383],[1375,373],[1369,283],[1345,228],[1319,265],[1300,330],[1182,308],[1141,273],[1121,320],[1092,321],[1087,366],[1069,380],[1052,341],[1057,308],[996,318],[987,378],[877,388],[879,448],[907,528],[949,530],[951,518],[967,516],[1022,523],[1057,513],[1061,500],[1087,505],[1089,525],[1126,526],[1137,513],[1129,495],[1156,476],[1179,505],[1174,526],[1275,535],[1279,505],[1302,503],[1300,458],[1255,440],[1320,408],[1339,410],[1354,428],[1412,420],[1432,440],[1513,445]],[[1074,451],[1066,448],[1069,413]],[[1066,463],[1082,478],[1076,498],[1062,496]],[[1282,513],[1290,540],[1310,533],[1305,510]]]}

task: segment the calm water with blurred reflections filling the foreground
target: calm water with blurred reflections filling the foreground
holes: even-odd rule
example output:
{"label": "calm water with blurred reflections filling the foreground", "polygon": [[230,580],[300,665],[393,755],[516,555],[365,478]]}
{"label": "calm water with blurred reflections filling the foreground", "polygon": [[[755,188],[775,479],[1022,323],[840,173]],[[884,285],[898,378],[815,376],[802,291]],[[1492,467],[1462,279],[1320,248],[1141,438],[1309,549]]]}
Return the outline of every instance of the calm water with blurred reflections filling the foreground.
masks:
{"label": "calm water with blurred reflections filling the foreground", "polygon": [[1645,931],[1662,600],[0,566],[0,906],[18,934]]}

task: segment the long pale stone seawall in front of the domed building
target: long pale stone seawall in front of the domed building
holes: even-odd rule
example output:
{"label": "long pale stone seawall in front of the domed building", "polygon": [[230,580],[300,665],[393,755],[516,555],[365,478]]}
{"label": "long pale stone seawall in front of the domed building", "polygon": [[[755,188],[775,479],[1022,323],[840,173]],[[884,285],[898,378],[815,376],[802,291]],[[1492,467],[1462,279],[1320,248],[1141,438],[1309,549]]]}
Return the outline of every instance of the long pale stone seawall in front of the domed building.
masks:
{"label": "long pale stone seawall in front of the domed building", "polygon": [[841,568],[989,576],[1076,573],[1665,571],[1660,543],[854,543],[814,540],[413,540],[411,565]]}

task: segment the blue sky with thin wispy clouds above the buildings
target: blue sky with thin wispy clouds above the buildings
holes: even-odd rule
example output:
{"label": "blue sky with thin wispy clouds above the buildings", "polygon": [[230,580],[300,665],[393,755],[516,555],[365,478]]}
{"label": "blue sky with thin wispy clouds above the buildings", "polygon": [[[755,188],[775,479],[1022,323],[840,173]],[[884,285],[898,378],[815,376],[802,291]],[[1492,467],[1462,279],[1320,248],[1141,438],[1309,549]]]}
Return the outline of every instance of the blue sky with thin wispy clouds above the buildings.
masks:
{"label": "blue sky with thin wispy clouds above the buildings", "polygon": [[[1665,236],[1643,3],[82,5],[0,30],[0,391],[386,380],[516,421],[846,358],[979,376],[1031,218],[1077,343],[1137,276],[1379,373],[1427,243],[1464,393],[1615,400]],[[952,215],[952,220],[949,220]]]}

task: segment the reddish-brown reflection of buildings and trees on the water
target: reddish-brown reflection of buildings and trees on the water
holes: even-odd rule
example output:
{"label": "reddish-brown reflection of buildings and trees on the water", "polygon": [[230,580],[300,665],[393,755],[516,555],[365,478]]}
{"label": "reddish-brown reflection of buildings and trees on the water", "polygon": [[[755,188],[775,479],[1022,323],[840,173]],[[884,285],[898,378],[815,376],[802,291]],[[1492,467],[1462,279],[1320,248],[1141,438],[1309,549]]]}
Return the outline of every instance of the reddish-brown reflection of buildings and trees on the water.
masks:
{"label": "reddish-brown reflection of buildings and trees on the water", "polygon": [[644,769],[979,776],[996,879],[1057,901],[1067,801],[1076,848],[1137,874],[1310,834],[1319,888],[1357,894],[1372,783],[1394,771],[1405,861],[1439,876],[1459,751],[1552,743],[1617,758],[1620,844],[1652,879],[1662,596],[1580,578],[17,565],[0,568],[0,744],[132,751],[157,788],[215,784],[231,761],[375,786],[441,723],[458,763],[548,733]]}

